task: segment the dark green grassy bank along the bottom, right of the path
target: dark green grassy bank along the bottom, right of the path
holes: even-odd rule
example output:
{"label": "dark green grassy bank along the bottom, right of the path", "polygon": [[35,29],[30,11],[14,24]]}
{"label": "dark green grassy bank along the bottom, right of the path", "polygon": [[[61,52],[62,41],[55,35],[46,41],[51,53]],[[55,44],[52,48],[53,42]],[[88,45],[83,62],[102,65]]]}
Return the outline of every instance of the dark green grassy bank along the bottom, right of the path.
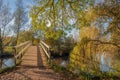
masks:
{"label": "dark green grassy bank along the bottom, right of the path", "polygon": [[120,80],[119,72],[102,72],[94,71],[94,74],[85,70],[70,70],[68,65],[66,68],[58,65],[55,61],[51,62],[52,69],[59,73],[64,80]]}

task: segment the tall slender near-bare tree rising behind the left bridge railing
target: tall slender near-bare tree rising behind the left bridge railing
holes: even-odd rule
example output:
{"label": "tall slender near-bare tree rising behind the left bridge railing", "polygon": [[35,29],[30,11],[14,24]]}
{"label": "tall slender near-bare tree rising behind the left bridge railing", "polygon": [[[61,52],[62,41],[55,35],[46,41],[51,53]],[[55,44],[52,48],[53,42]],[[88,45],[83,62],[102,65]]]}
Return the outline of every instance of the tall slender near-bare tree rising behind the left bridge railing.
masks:
{"label": "tall slender near-bare tree rising behind the left bridge railing", "polygon": [[27,21],[27,15],[26,15],[22,0],[17,0],[16,7],[17,8],[14,12],[14,17],[15,17],[14,33],[16,33],[15,45],[18,44],[19,33]]}

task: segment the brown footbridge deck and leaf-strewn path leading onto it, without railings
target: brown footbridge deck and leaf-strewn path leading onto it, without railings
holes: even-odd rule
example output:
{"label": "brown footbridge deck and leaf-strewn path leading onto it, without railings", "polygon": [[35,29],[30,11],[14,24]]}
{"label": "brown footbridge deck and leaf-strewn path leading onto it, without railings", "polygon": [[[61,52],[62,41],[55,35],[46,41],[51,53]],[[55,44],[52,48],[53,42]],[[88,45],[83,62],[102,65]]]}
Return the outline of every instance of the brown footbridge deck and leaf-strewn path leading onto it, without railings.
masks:
{"label": "brown footbridge deck and leaf-strewn path leading onto it, without railings", "polygon": [[0,80],[61,80],[59,74],[47,67],[41,47],[30,46],[20,66],[0,74]]}

